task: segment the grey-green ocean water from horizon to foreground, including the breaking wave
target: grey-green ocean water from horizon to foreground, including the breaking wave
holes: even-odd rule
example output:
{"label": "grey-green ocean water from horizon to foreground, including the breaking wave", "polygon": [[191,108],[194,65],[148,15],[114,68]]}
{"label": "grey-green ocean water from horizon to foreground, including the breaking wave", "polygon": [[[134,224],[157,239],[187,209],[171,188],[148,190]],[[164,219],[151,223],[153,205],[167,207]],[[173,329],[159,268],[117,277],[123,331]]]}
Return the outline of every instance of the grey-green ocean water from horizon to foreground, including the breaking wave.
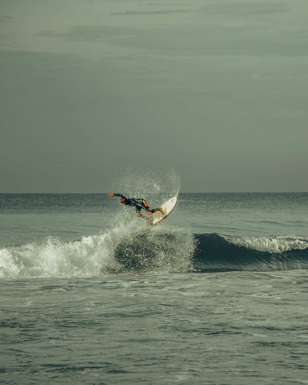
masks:
{"label": "grey-green ocean water from horizon to foreground, including the breaking wave", "polygon": [[107,193],[0,194],[0,383],[308,384],[307,207],[179,193],[150,227]]}

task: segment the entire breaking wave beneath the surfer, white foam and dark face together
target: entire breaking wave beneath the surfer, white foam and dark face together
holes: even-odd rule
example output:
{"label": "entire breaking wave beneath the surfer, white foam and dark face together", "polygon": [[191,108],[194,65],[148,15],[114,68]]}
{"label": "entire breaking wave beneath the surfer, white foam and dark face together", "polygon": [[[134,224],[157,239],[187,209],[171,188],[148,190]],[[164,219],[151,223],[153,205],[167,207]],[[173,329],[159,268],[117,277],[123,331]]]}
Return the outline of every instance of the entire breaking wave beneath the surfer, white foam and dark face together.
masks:
{"label": "entire breaking wave beneath the surfer, white foam and dark face together", "polygon": [[90,278],[110,274],[275,271],[308,268],[308,238],[239,237],[147,228],[136,221],[64,242],[49,237],[0,250],[2,278]]}

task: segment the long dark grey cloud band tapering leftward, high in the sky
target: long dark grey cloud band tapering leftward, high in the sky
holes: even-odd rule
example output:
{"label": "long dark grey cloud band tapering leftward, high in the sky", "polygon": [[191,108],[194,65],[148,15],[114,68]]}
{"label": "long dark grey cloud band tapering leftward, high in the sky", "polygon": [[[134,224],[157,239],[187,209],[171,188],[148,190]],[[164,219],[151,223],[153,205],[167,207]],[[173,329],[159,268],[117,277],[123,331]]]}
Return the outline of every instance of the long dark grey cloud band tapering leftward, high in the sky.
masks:
{"label": "long dark grey cloud band tapering leftward, high in the sky", "polygon": [[[273,28],[273,26],[271,26]],[[306,30],[264,30],[263,25],[78,26],[67,32],[41,31],[42,37],[104,43],[167,56],[305,56]]]}

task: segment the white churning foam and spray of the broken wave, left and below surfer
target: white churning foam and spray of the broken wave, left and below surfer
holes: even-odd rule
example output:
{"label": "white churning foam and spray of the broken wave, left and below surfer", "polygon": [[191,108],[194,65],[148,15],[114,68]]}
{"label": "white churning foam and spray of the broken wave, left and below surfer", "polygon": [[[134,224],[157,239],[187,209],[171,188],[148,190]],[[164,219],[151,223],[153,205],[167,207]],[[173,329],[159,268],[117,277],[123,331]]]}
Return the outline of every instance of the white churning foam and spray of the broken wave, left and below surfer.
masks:
{"label": "white churning foam and spray of the broken wave, left and below surfer", "polygon": [[133,259],[134,270],[189,269],[195,248],[192,234],[166,226],[146,227],[137,218],[125,223],[126,217],[129,216],[121,215],[122,222],[114,228],[78,241],[63,242],[49,237],[44,243],[4,248],[0,250],[0,277],[98,277],[121,271],[121,258]]}

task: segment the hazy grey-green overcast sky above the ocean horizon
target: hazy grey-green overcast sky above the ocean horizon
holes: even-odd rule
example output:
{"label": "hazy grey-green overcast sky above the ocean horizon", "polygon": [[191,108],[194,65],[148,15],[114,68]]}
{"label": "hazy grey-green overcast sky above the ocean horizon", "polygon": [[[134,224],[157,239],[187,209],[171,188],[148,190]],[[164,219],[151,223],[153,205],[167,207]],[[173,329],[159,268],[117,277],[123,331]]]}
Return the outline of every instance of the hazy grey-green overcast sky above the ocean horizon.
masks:
{"label": "hazy grey-green overcast sky above the ocean horizon", "polygon": [[0,192],[308,191],[308,1],[2,0]]}

